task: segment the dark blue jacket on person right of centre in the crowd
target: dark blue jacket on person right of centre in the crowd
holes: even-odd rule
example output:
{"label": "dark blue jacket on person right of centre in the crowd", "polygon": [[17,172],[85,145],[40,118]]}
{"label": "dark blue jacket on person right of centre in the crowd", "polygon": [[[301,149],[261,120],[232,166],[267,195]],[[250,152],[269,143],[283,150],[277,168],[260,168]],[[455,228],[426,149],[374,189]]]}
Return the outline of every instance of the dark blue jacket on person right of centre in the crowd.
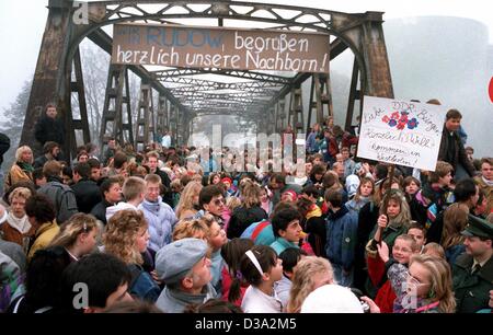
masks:
{"label": "dark blue jacket on person right of centre in the crowd", "polygon": [[326,218],[326,256],[346,270],[353,267],[357,228],[357,213],[349,211],[345,205]]}

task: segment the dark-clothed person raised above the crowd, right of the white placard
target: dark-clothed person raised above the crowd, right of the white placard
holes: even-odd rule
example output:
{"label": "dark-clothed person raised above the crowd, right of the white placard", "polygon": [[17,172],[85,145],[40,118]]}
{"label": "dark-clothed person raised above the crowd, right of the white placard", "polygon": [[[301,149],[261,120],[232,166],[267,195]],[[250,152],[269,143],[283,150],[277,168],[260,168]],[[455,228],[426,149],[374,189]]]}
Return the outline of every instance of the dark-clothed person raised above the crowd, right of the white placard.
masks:
{"label": "dark-clothed person raised above the crowd, right of the white placard", "polygon": [[[449,109],[446,115],[444,130],[442,132],[440,149],[438,150],[438,160],[445,161],[452,165],[454,171],[458,172],[456,174],[456,181],[460,181],[467,176],[474,176],[475,170],[471,161],[466,154],[466,149],[463,143],[460,141],[460,136],[458,130],[460,127],[460,120],[462,119],[462,114],[457,109]],[[459,173],[458,165],[462,165],[467,175]]]}

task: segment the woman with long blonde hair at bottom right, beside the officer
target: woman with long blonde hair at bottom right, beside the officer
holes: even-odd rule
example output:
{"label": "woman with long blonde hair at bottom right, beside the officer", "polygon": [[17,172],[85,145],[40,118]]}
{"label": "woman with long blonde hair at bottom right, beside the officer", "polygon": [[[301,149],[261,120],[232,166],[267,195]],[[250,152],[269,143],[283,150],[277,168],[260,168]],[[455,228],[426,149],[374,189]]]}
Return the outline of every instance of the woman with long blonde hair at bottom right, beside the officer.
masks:
{"label": "woman with long blonde hair at bottom right, beside the officer", "polygon": [[402,313],[454,313],[450,266],[445,259],[429,255],[411,257],[408,277],[408,299]]}

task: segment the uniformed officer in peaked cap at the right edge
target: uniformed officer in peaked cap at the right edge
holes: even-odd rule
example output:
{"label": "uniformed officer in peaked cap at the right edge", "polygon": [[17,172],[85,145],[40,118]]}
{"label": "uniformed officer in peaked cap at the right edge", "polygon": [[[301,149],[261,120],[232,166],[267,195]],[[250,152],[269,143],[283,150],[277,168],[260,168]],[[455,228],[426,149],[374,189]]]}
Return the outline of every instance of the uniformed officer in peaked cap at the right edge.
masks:
{"label": "uniformed officer in peaked cap at the right edge", "polygon": [[461,233],[466,238],[466,253],[457,257],[452,268],[456,311],[475,313],[488,309],[493,290],[493,224],[469,215]]}

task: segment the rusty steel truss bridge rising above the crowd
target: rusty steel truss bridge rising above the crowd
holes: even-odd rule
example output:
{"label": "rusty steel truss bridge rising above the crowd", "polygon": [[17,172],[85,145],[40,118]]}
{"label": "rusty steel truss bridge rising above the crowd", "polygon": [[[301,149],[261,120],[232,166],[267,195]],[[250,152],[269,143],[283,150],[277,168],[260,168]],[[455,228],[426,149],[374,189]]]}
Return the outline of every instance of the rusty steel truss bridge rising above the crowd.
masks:
{"label": "rusty steel truss bridge rising above the crowd", "polygon": [[[112,53],[112,37],[103,30],[115,23],[181,24],[183,20],[211,26],[254,26],[291,32],[319,32],[330,38],[330,60],[344,50],[354,54],[345,127],[351,126],[355,104],[364,95],[393,97],[390,67],[382,31],[382,13],[343,13],[305,7],[240,1],[94,1],[49,0],[48,18],[27,105],[21,142],[39,150],[35,122],[48,102],[56,102],[66,134],[66,152],[74,152],[76,131],[91,141],[79,45],[89,38]],[[87,15],[87,20],[83,15]],[[81,22],[82,21],[82,22]],[[141,79],[137,119],[133,119],[128,71]],[[157,132],[172,130],[176,143],[185,143],[192,119],[198,115],[241,115],[257,130],[279,132],[287,124],[305,131],[314,122],[333,115],[329,73],[272,73],[216,68],[163,68],[108,63],[108,77],[100,143],[110,137],[135,146]],[[215,80],[210,80],[214,77]],[[301,84],[311,80],[308,111],[303,111]],[[71,108],[72,94],[80,117]],[[154,95],[153,95],[154,94]],[[159,95],[154,106],[152,96]],[[359,104],[363,106],[363,104]],[[303,113],[308,112],[308,113]],[[314,113],[314,115],[313,115]]]}

